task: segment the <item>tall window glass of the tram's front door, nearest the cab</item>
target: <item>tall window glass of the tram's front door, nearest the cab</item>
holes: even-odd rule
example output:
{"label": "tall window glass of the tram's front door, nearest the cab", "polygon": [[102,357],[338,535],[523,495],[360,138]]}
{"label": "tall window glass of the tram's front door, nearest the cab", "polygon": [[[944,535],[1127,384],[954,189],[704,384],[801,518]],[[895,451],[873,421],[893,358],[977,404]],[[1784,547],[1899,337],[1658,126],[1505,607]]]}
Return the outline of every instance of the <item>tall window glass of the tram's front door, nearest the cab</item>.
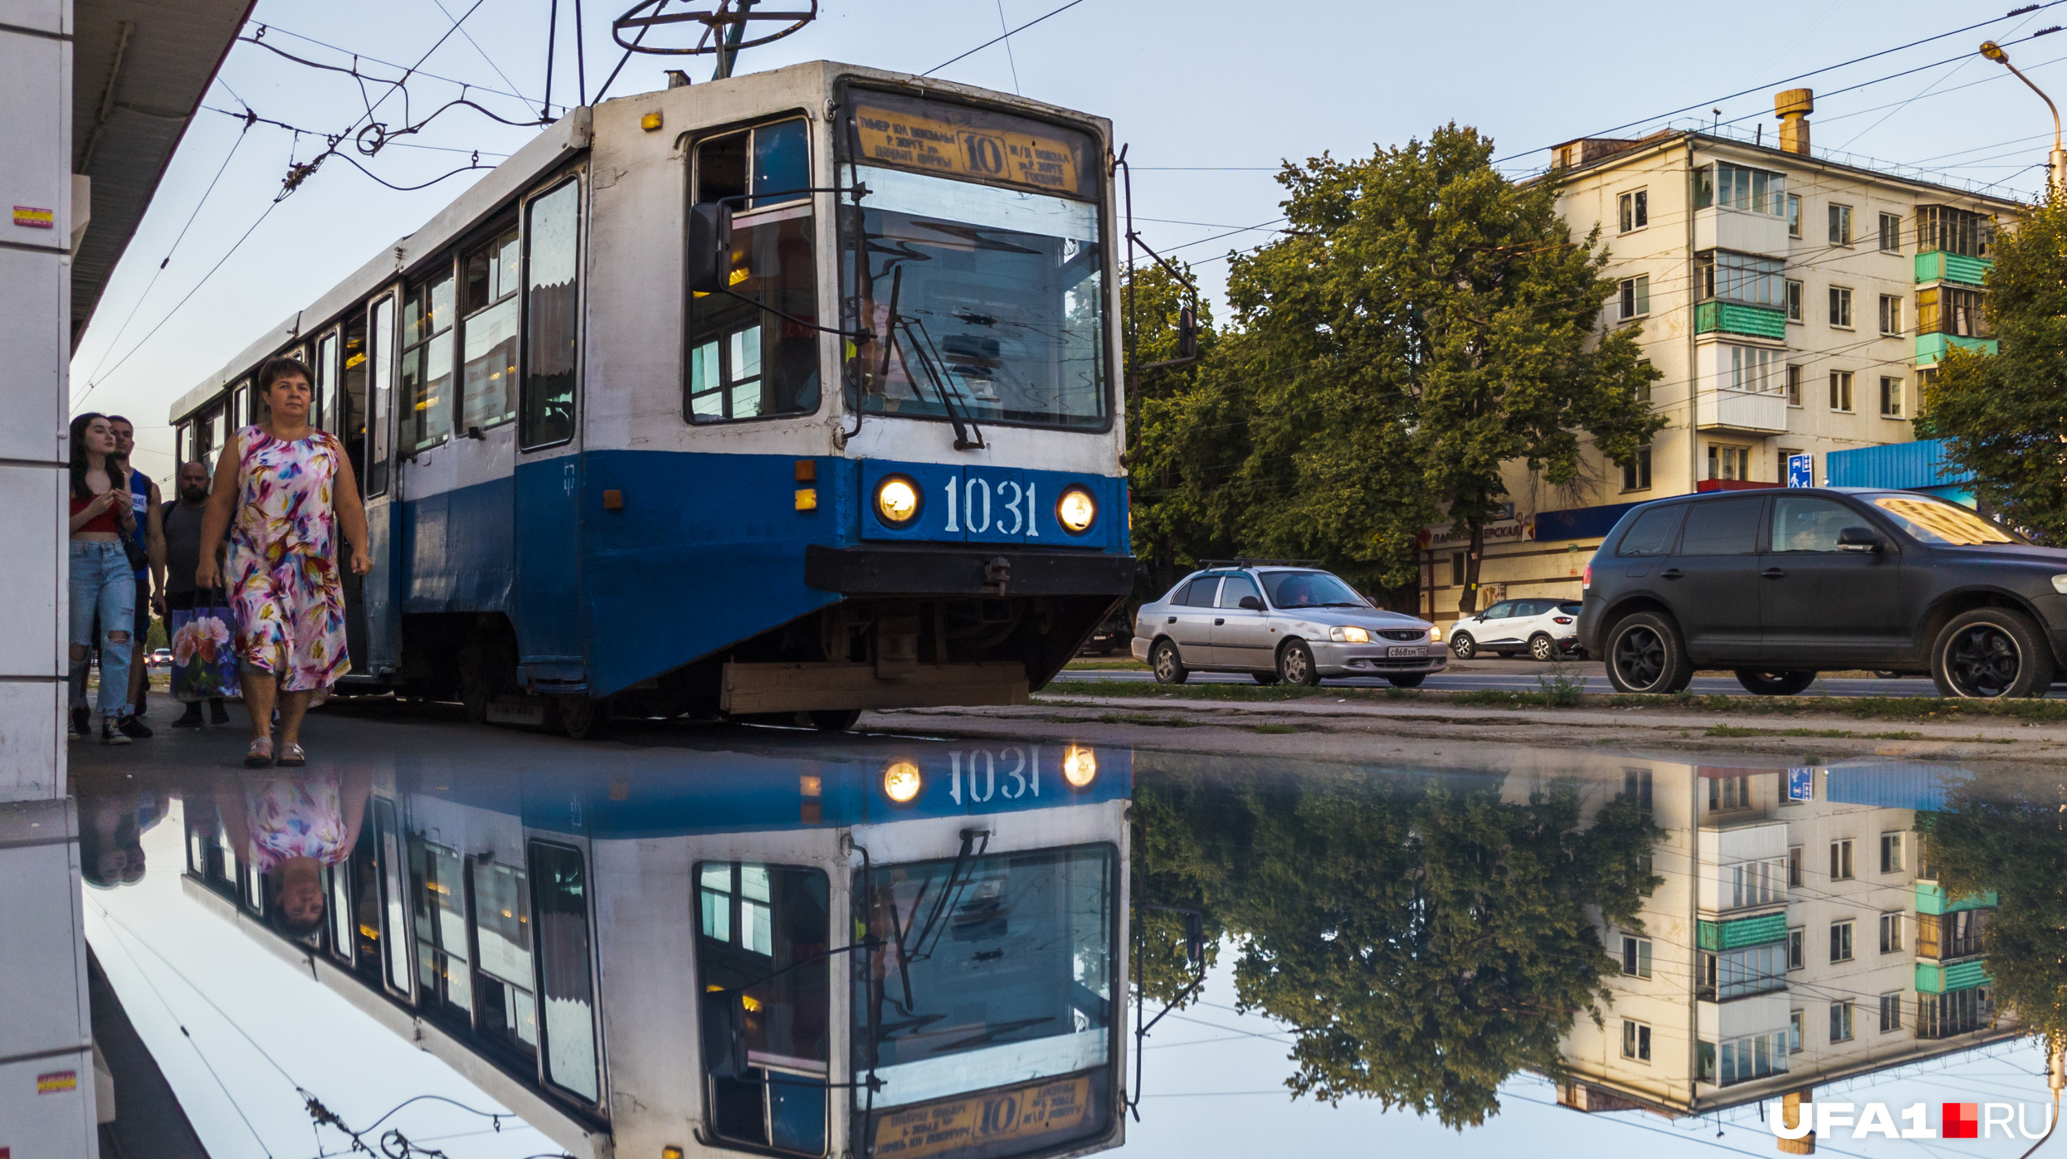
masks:
{"label": "tall window glass of the tram's front door, nearest the cab", "polygon": [[581,182],[533,198],[525,244],[525,448],[575,438],[575,370],[581,353]]}

